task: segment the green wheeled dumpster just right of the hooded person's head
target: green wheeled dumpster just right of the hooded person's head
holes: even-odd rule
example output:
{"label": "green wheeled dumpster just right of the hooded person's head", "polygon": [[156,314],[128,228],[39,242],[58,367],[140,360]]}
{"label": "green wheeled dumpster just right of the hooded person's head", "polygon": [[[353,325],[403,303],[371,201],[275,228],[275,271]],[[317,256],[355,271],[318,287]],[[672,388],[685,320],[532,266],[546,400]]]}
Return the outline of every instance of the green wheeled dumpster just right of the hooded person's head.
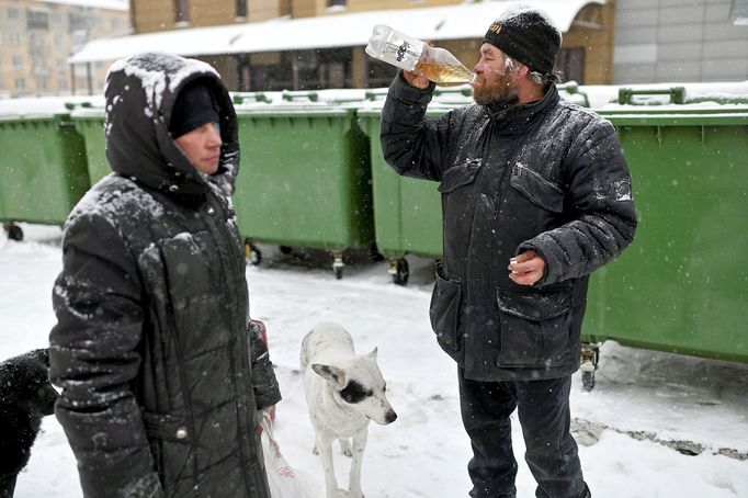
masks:
{"label": "green wheeled dumpster just right of the hooded person's head", "polygon": [[374,242],[369,144],[354,107],[314,92],[283,95],[236,105],[239,229],[253,263],[261,258],[254,241],[321,249],[332,252],[340,279],[343,252]]}

